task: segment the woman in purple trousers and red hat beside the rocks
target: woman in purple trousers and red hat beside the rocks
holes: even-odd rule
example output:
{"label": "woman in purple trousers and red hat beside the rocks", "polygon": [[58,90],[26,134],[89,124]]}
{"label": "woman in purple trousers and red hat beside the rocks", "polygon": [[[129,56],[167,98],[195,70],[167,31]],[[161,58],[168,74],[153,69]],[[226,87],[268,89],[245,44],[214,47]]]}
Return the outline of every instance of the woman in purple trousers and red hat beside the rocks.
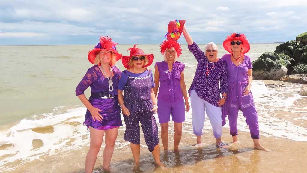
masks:
{"label": "woman in purple trousers and red hat beside the rocks", "polygon": [[228,115],[230,134],[233,143],[238,141],[238,113],[242,111],[246,123],[250,128],[254,148],[270,151],[260,145],[258,114],[256,111],[253,95],[250,91],[253,80],[251,58],[246,54],[250,45],[244,34],[233,33],[223,42],[223,47],[230,54],[225,54],[221,59],[226,62],[228,76],[228,99],[223,105],[223,126],[226,124]]}

